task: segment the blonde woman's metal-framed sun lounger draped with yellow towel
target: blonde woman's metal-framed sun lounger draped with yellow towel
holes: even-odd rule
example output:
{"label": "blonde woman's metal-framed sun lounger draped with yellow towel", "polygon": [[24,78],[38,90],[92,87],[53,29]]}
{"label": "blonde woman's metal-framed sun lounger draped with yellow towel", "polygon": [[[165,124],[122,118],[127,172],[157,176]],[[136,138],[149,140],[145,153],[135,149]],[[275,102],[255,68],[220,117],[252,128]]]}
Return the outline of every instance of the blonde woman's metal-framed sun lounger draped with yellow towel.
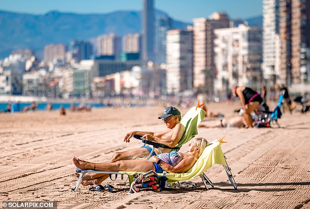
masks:
{"label": "blonde woman's metal-framed sun lounger draped with yellow towel", "polygon": [[[209,180],[209,178],[204,174],[204,171],[210,168],[214,163],[223,165],[226,174],[230,183],[237,189],[237,184],[234,180],[234,177],[231,173],[231,169],[228,166],[225,156],[221,150],[221,140],[214,140],[208,145],[202,152],[198,161],[186,172],[184,173],[167,173],[168,184],[178,182],[178,181],[186,181],[193,179],[197,176],[200,176],[204,186],[206,189],[209,189],[207,184],[214,187],[213,183]],[[76,183],[74,191],[77,191],[80,182],[83,176],[86,173],[106,173],[106,174],[125,174],[129,177],[129,183],[133,182],[133,175],[137,172],[128,172],[128,171],[94,171],[94,170],[81,170],[81,175]],[[158,173],[158,176],[161,176],[161,173]]]}

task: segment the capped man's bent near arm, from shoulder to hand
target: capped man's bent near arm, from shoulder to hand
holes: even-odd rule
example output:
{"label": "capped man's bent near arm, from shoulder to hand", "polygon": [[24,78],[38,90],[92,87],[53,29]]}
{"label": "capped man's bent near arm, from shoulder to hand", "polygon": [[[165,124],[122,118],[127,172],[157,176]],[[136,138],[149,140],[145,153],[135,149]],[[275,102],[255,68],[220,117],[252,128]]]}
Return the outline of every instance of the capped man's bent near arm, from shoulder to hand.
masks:
{"label": "capped man's bent near arm, from shoulder to hand", "polygon": [[[169,130],[165,131],[165,133],[167,133],[168,131]],[[171,139],[161,138],[164,135],[162,134],[163,132],[155,133],[155,134],[146,134],[142,137],[142,139],[155,141],[157,143],[165,144],[166,146],[169,146],[169,147],[175,147],[177,143],[180,141],[180,139],[182,138],[184,132],[185,132],[184,126],[181,123],[178,123],[173,129]],[[162,135],[160,136],[160,134]]]}

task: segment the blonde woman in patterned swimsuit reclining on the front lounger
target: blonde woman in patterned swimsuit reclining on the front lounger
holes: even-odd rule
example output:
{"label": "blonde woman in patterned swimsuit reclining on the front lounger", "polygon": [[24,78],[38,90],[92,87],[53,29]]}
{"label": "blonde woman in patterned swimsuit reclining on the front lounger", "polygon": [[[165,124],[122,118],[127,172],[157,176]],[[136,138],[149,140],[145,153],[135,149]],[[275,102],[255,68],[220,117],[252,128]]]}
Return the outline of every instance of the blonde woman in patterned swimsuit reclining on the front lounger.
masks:
{"label": "blonde woman in patterned swimsuit reclining on the front lounger", "polygon": [[[165,170],[168,173],[182,173],[189,170],[196,163],[207,145],[208,141],[206,139],[195,137],[188,145],[187,154],[172,151],[158,154],[150,159],[117,161],[114,163],[90,163],[74,157],[73,163],[82,170],[137,172],[155,170],[157,173],[162,173]],[[101,174],[99,178],[96,178],[96,175],[86,174],[82,179],[82,185],[100,185],[108,177],[109,174],[104,176]]]}

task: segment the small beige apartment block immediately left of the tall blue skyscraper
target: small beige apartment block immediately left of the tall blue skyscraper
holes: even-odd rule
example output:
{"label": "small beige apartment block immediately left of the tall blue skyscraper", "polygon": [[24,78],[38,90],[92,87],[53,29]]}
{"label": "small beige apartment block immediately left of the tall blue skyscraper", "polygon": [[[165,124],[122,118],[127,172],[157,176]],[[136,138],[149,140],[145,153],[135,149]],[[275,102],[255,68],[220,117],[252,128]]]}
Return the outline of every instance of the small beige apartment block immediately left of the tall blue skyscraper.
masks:
{"label": "small beige apartment block immediately left of the tall blue skyscraper", "polygon": [[141,52],[141,35],[139,33],[127,34],[123,36],[123,52]]}

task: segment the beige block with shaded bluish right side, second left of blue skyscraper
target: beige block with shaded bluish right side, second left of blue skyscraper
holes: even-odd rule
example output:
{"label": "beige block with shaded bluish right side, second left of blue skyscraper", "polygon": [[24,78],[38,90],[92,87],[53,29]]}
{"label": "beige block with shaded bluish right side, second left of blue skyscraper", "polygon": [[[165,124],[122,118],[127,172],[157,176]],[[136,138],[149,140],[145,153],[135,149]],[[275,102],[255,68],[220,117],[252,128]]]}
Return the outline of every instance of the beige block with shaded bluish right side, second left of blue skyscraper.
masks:
{"label": "beige block with shaded bluish right side, second left of blue skyscraper", "polygon": [[103,56],[114,56],[115,59],[118,59],[119,46],[120,39],[116,34],[105,34],[98,37],[97,53]]}

